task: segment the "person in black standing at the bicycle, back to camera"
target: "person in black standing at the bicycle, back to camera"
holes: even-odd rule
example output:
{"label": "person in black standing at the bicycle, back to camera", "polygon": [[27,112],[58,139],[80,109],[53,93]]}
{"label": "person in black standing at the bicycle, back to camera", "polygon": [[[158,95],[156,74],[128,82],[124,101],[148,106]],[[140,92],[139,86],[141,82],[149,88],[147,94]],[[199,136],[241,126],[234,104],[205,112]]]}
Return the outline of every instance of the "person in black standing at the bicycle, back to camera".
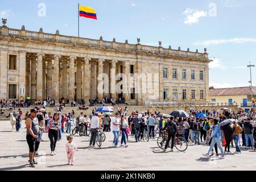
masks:
{"label": "person in black standing at the bicycle, back to camera", "polygon": [[166,130],[168,133],[168,139],[166,141],[166,146],[164,146],[164,151],[166,151],[166,149],[170,143],[170,140],[172,139],[171,152],[173,152],[174,151],[174,138],[175,138],[175,134],[177,133],[177,125],[174,122],[174,117],[170,118],[170,120],[164,126],[163,130]]}

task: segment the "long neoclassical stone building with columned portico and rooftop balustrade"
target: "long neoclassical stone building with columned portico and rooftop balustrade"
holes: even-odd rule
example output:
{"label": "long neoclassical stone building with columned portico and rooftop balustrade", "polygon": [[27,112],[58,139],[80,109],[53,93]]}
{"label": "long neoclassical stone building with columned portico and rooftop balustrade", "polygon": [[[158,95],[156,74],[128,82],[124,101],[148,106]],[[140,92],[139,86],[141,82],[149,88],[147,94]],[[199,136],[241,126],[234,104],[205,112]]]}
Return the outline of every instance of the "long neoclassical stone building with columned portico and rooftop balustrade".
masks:
{"label": "long neoclassical stone building with columned portico and rooftop balustrade", "polygon": [[[47,34],[42,28],[16,30],[5,24],[3,20],[0,27],[1,100],[49,96],[88,101],[108,96],[125,97],[131,104],[208,101],[211,60],[206,49],[204,53],[181,51],[163,48],[161,42],[159,47],[143,46],[139,39],[137,44],[108,42],[59,31]],[[118,83],[121,91],[115,88]]]}

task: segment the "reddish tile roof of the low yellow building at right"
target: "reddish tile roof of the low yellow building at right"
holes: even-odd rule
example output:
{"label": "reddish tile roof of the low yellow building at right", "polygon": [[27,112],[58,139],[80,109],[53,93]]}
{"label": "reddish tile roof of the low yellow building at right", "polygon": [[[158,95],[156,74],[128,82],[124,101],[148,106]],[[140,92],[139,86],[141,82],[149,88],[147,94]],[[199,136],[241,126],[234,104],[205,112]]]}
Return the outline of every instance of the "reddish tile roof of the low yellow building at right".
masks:
{"label": "reddish tile roof of the low yellow building at right", "polygon": [[[253,94],[256,94],[256,86],[252,88]],[[209,89],[209,96],[241,96],[251,95],[251,89],[249,86],[246,87],[236,87],[236,88],[224,88],[224,89]]]}

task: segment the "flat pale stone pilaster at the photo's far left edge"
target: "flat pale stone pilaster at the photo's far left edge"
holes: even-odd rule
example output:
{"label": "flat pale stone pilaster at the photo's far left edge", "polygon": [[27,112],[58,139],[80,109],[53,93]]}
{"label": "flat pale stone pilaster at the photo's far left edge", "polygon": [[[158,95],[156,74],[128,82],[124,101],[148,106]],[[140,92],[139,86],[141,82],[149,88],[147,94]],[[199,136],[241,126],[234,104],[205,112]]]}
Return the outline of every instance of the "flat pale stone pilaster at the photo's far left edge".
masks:
{"label": "flat pale stone pilaster at the photo's far left edge", "polygon": [[7,70],[8,70],[8,51],[0,49],[0,98],[7,100]]}

